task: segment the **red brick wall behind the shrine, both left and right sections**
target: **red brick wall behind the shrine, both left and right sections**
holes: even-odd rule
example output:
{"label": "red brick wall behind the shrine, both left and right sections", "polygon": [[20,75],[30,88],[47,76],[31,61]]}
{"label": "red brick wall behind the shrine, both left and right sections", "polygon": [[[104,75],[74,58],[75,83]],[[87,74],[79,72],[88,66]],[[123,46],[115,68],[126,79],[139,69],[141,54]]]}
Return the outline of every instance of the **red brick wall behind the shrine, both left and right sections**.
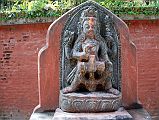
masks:
{"label": "red brick wall behind the shrine, both left and right sections", "polygon": [[[126,21],[137,48],[138,100],[159,115],[159,20]],[[0,119],[28,119],[38,105],[38,51],[50,23],[0,26]]]}

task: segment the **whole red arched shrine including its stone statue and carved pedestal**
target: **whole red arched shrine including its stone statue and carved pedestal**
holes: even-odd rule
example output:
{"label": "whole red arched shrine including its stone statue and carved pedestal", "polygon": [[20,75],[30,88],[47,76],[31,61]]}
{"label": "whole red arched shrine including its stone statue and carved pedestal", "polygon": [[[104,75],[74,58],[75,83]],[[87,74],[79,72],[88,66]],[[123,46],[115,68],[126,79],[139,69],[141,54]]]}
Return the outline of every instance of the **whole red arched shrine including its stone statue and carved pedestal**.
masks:
{"label": "whole red arched shrine including its stone statue and carved pedestal", "polygon": [[51,24],[46,42],[35,110],[105,112],[137,102],[135,47],[127,25],[106,8],[75,7]]}

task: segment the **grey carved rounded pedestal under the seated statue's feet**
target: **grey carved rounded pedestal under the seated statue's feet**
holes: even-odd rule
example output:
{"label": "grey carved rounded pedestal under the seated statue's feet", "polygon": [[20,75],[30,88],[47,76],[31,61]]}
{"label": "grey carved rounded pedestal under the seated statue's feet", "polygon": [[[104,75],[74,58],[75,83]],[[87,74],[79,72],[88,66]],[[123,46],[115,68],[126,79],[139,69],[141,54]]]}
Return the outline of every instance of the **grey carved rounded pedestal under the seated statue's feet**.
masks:
{"label": "grey carved rounded pedestal under the seated statue's feet", "polygon": [[60,107],[67,112],[116,111],[121,106],[121,94],[106,92],[60,93]]}

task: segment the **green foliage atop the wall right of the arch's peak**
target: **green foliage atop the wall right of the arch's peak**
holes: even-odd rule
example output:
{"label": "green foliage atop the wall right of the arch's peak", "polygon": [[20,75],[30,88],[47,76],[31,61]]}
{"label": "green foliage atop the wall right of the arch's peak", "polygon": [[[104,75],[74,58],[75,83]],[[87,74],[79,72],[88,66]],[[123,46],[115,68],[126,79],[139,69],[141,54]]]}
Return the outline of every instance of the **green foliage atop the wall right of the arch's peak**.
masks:
{"label": "green foliage atop the wall right of the arch's peak", "polygon": [[152,2],[150,5],[138,1],[125,1],[125,0],[96,0],[102,6],[110,9],[117,15],[158,15],[159,2]]}

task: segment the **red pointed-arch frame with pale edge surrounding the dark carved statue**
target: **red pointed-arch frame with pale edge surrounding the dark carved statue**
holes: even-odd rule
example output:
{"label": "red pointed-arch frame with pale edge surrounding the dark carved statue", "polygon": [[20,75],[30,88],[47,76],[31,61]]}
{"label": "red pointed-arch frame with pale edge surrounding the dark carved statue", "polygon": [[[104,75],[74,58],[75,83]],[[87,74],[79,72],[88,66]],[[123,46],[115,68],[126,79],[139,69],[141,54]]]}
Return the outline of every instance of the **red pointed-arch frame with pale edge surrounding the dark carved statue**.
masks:
{"label": "red pointed-arch frame with pale edge surrounding the dark carved statue", "polygon": [[59,105],[60,91],[60,40],[68,17],[86,5],[93,5],[107,11],[119,32],[121,45],[121,91],[123,105],[137,103],[136,48],[129,40],[127,25],[112,12],[95,2],[85,2],[54,21],[47,32],[46,45],[38,54],[39,105],[35,110],[55,110]]}

